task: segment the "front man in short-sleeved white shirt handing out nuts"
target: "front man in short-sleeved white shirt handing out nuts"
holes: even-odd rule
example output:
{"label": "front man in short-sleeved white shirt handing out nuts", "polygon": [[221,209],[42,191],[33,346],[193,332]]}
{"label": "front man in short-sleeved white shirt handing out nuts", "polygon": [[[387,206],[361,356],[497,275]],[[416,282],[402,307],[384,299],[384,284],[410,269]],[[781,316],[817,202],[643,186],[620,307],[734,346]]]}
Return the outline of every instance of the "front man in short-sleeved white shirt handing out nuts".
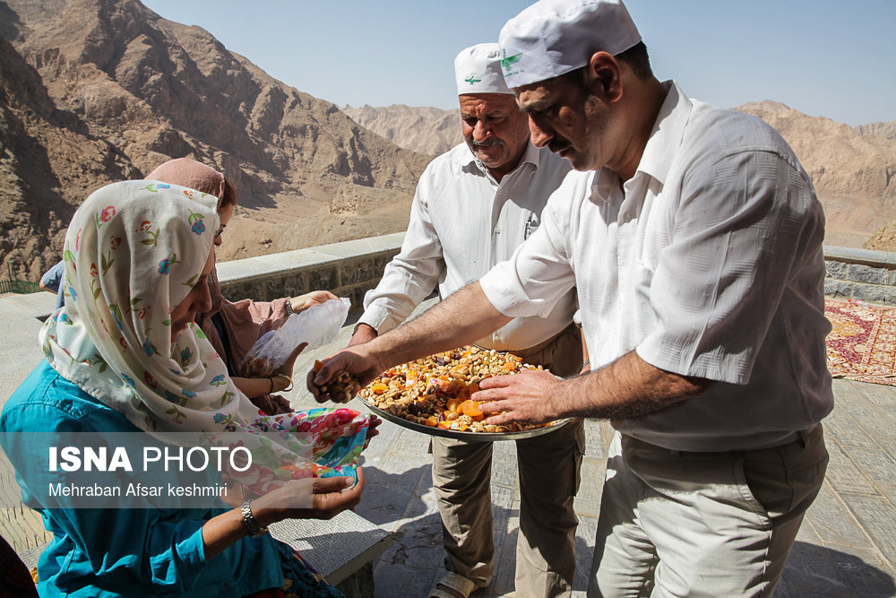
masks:
{"label": "front man in short-sleeved white shirt handing out nuts", "polygon": [[771,596],[827,464],[811,180],[761,120],[659,82],[618,0],[543,0],[499,44],[532,142],[577,172],[511,260],[318,381],[369,380],[575,285],[591,372],[490,378],[473,398],[492,423],[611,419],[589,594]]}

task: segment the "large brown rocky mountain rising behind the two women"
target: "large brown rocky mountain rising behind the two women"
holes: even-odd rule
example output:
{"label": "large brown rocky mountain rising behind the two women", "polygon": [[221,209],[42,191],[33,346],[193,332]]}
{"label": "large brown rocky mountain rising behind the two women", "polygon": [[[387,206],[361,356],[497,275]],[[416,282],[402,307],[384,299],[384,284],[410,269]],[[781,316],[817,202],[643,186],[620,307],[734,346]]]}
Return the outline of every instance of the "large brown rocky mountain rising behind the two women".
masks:
{"label": "large brown rocky mountain rising behind the two women", "polygon": [[37,280],[90,190],[169,158],[223,171],[220,259],[404,230],[431,159],[137,0],[0,2],[0,260]]}

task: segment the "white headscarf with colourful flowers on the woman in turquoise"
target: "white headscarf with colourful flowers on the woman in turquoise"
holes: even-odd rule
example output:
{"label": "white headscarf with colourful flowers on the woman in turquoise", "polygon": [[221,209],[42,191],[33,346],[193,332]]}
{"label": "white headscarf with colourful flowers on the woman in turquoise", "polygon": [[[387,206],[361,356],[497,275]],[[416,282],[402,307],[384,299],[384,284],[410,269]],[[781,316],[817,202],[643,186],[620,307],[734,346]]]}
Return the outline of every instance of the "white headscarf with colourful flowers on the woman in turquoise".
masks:
{"label": "white headscarf with colourful flowers on the woman in turquoise", "polygon": [[232,430],[259,415],[198,325],[171,341],[171,310],[208,260],[217,204],[182,186],[114,183],[65,236],[65,307],[40,334],[47,360],[149,432]]}

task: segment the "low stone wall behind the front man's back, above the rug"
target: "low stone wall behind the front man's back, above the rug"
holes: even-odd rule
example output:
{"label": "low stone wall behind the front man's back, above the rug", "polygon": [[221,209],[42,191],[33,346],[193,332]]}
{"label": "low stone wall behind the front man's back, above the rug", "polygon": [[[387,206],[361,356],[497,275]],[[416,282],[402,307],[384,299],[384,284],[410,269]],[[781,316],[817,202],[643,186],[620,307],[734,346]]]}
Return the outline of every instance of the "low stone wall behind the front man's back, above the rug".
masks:
{"label": "low stone wall behind the front man's back, above the rug", "polygon": [[896,305],[896,254],[824,247],[824,294]]}

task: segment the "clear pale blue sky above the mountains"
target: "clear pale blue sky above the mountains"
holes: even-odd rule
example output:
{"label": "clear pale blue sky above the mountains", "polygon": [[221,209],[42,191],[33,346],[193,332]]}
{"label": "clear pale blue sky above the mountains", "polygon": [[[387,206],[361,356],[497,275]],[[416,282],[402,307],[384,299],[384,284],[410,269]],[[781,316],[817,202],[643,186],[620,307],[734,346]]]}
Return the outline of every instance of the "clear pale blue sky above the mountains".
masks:
{"label": "clear pale blue sky above the mountains", "polygon": [[[454,56],[528,0],[142,0],[339,107],[456,108]],[[724,108],[776,100],[849,126],[896,120],[896,0],[629,0],[660,80]]]}

